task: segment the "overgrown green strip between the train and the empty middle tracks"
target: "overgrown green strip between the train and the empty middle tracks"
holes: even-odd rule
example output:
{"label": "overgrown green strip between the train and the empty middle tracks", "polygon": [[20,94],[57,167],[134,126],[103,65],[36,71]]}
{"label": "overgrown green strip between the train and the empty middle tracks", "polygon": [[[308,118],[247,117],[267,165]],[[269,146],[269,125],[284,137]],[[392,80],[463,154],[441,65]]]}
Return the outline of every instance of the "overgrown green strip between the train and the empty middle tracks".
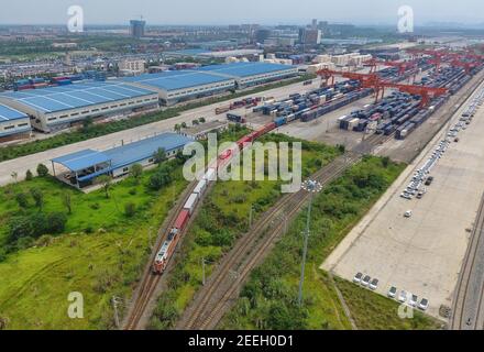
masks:
{"label": "overgrown green strip between the train and the empty middle tracks", "polygon": [[[296,141],[282,134],[270,134],[262,142]],[[302,143],[304,174],[316,172],[334,158],[334,147]],[[213,264],[246,232],[252,205],[254,220],[271,208],[282,196],[280,182],[218,182],[204,200],[193,227],[185,235],[180,253],[175,258],[173,272],[167,274],[167,289],[158,299],[151,320],[152,329],[173,327],[201,286],[201,258],[208,264],[207,276]]]}

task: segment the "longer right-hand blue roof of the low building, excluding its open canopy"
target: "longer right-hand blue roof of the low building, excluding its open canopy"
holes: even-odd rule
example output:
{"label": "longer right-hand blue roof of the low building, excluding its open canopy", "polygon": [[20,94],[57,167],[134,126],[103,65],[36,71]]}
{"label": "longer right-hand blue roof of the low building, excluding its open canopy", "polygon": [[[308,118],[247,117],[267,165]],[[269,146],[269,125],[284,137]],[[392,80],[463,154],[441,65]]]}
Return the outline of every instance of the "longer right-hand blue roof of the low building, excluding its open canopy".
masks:
{"label": "longer right-hand blue roof of the low building, excluding its open canopy", "polygon": [[103,153],[112,161],[112,169],[116,169],[150,158],[161,147],[168,153],[194,140],[177,133],[162,133]]}

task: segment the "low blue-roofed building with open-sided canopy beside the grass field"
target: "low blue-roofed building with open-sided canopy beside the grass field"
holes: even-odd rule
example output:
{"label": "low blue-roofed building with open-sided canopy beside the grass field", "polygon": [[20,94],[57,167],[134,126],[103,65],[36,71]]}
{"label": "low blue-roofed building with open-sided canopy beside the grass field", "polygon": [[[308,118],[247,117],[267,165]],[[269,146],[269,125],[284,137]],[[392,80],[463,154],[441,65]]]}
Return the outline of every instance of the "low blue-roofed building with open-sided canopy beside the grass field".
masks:
{"label": "low blue-roofed building with open-sided canopy beside the grass field", "polygon": [[[158,148],[163,148],[168,158],[175,157],[193,141],[180,134],[162,133],[103,152],[84,150],[53,158],[53,174],[72,186],[84,188],[92,185],[96,177],[101,175],[128,175],[133,164],[141,164],[143,167],[153,165],[153,155]],[[62,165],[63,169],[58,172],[56,165]]]}

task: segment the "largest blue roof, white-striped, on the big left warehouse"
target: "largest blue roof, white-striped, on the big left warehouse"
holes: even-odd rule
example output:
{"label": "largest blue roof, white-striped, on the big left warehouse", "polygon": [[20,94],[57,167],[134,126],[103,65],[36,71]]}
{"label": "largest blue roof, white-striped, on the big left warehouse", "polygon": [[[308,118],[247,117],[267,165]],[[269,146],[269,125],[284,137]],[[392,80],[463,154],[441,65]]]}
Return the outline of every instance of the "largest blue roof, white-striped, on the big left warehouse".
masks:
{"label": "largest blue roof, white-striped, on the big left warehouse", "polygon": [[0,97],[15,100],[41,112],[56,112],[153,94],[154,91],[120,81],[92,81],[4,92]]}

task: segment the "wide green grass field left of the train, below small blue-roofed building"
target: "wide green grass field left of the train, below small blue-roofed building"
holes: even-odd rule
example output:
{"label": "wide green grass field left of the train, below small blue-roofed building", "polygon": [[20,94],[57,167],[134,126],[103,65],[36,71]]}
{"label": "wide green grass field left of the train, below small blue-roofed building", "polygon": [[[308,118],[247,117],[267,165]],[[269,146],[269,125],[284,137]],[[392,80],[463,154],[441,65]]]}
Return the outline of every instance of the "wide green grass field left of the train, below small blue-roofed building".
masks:
{"label": "wide green grass field left of the train, below small blue-roofed building", "polygon": [[[0,189],[3,242],[10,217],[38,211],[32,200],[28,209],[20,209],[13,198],[16,193],[31,187],[42,189],[45,212],[67,212],[61,200],[65,193],[72,194],[73,202],[64,234],[51,238],[46,244],[8,254],[0,263],[0,317],[8,320],[8,329],[113,327],[111,297],[125,301],[131,298],[150,253],[148,232],[154,239],[174,199],[187,186],[179,166],[169,186],[150,190],[146,183],[153,173],[144,172],[139,184],[128,178],[113,185],[109,199],[103,190],[82,194],[51,177]],[[136,205],[133,218],[124,215],[127,202]],[[84,319],[67,317],[70,292],[84,295]]]}

